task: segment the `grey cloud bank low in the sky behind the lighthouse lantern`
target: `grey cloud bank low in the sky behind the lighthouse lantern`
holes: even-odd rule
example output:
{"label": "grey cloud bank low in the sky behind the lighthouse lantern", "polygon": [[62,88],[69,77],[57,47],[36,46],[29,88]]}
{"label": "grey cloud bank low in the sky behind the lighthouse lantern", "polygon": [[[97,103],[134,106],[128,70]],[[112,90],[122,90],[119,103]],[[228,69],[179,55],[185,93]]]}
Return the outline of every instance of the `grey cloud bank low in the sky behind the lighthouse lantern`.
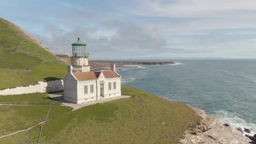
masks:
{"label": "grey cloud bank low in the sky behind the lighthouse lantern", "polygon": [[[73,31],[67,32],[65,30],[57,29],[62,33],[55,33],[55,26],[46,26],[44,31],[51,33],[50,37],[42,37],[42,35],[34,36],[39,39],[44,45],[49,46],[49,49],[54,53],[71,52],[71,43],[77,37],[88,44],[88,52],[93,58],[111,58],[111,57],[140,57],[148,53],[164,53],[166,51],[172,52],[186,52],[185,50],[171,49],[166,47],[166,40],[161,38],[158,34],[150,31],[145,31],[143,28],[133,25],[117,26],[117,32],[106,37],[90,37],[89,28],[76,28]],[[96,31],[96,33],[101,33]],[[188,51],[190,52],[190,51]]]}

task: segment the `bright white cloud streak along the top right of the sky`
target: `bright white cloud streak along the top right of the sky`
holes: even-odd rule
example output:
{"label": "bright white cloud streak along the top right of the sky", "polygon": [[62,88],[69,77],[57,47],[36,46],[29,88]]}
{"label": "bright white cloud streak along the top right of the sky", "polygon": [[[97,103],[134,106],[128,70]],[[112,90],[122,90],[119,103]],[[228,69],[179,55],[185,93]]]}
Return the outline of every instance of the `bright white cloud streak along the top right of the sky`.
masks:
{"label": "bright white cloud streak along the top right of the sky", "polygon": [[[247,0],[179,0],[179,1],[152,1],[142,0],[141,4],[131,11],[135,15],[168,16],[168,17],[216,17],[216,14],[225,11],[256,10],[256,1]],[[127,11],[129,13],[129,11]]]}

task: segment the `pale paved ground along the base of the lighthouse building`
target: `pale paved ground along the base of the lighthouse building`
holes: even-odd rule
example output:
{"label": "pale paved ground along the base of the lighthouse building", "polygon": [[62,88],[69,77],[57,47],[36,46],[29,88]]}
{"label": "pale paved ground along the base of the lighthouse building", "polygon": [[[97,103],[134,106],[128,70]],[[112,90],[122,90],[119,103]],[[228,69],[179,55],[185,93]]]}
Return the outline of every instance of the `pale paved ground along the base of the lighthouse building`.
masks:
{"label": "pale paved ground along the base of the lighthouse building", "polygon": [[130,98],[131,97],[131,96],[128,96],[128,95],[121,95],[119,97],[113,97],[113,98],[107,98],[107,99],[101,99],[101,100],[94,100],[94,101],[89,101],[89,102],[82,103],[82,104],[74,104],[74,103],[69,103],[68,101],[63,100],[62,93],[55,93],[55,94],[49,94],[49,95],[54,100],[59,100],[61,102],[61,105],[73,107],[73,110],[77,110],[77,109],[80,109],[80,108],[82,108],[84,106],[88,106],[88,105],[105,103],[105,102],[111,101],[111,100]]}

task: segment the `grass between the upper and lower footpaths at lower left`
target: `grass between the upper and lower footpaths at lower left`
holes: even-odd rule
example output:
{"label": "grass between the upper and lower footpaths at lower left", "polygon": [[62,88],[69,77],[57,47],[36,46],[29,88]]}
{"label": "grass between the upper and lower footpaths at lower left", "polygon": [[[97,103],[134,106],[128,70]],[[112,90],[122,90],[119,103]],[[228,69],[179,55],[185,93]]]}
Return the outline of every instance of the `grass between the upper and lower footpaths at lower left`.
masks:
{"label": "grass between the upper and lower footpaths at lower left", "polygon": [[[0,106],[0,136],[27,129],[44,121],[49,106]],[[71,107],[52,106],[49,117],[71,111]]]}

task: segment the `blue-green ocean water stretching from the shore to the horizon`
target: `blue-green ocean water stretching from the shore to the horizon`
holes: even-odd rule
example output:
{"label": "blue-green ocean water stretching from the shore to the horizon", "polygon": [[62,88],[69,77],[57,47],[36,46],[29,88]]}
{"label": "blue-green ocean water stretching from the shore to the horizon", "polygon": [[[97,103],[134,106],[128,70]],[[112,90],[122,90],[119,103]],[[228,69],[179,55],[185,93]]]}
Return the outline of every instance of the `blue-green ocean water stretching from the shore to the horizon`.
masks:
{"label": "blue-green ocean water stretching from the shore to the horizon", "polygon": [[124,85],[189,104],[256,133],[256,60],[176,60],[118,68]]}

